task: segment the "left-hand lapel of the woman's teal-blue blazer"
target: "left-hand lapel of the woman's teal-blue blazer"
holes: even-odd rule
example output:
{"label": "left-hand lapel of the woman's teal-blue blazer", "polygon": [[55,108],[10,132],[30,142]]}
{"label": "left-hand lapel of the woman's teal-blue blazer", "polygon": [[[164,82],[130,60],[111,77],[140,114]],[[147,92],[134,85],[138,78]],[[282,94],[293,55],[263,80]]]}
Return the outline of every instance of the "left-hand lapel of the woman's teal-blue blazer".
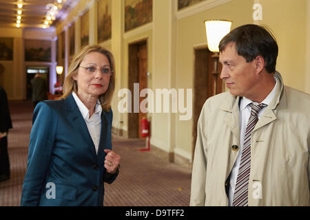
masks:
{"label": "left-hand lapel of the woman's teal-blue blazer", "polygon": [[87,129],[85,120],[83,119],[81,111],[79,110],[79,107],[76,105],[76,102],[72,94],[70,94],[70,96],[68,96],[68,98],[65,99],[65,110],[67,113],[66,116],[68,120],[71,122],[74,129],[76,129],[77,133],[81,135],[83,140],[87,142],[86,147],[90,148],[90,151],[92,151],[92,154],[94,155],[94,157],[96,157],[94,142],[92,142],[90,132]]}

